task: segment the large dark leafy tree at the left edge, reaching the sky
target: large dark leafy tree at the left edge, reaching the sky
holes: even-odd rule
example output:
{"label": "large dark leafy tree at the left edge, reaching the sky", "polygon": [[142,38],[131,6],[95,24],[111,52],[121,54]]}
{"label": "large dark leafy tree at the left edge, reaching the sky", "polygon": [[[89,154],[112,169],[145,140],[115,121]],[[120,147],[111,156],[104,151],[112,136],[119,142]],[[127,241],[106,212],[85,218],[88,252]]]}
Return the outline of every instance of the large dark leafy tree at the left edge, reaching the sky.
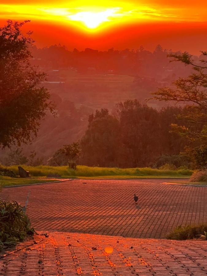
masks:
{"label": "large dark leafy tree at the left edge, reaching the sky", "polygon": [[36,136],[39,121],[53,105],[41,82],[45,74],[30,64],[33,39],[11,20],[0,28],[0,147],[27,144]]}

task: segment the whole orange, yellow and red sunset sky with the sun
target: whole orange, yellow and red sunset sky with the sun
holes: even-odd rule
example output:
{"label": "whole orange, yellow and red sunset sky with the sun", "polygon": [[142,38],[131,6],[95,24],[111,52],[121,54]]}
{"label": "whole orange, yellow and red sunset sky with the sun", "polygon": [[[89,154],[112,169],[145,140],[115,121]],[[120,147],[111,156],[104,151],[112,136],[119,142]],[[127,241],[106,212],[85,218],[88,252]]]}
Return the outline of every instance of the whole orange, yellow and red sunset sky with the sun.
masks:
{"label": "whole orange, yellow and red sunset sky with the sun", "polygon": [[25,1],[2,0],[0,25],[31,20],[38,47],[65,44],[107,50],[156,44],[198,54],[207,45],[206,1]]}

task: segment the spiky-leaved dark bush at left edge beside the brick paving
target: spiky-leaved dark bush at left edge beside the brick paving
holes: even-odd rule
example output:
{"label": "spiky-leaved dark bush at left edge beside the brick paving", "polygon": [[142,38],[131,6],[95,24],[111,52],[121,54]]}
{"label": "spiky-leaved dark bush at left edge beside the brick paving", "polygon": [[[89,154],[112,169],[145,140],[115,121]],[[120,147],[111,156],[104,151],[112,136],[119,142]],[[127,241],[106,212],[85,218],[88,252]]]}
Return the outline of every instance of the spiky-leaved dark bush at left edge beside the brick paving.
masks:
{"label": "spiky-leaved dark bush at left edge beside the brick paving", "polygon": [[16,201],[0,200],[0,251],[35,233],[29,218]]}

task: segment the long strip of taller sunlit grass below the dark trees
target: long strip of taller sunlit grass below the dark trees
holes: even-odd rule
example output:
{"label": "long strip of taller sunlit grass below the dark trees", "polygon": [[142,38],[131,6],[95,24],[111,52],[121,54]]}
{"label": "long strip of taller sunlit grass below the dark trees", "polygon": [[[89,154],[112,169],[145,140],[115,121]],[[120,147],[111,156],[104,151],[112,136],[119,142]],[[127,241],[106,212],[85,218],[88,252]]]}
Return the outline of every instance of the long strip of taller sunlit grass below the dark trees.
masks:
{"label": "long strip of taller sunlit grass below the dark trees", "polygon": [[[191,170],[178,169],[178,170],[159,170],[152,168],[102,168],[102,167],[87,167],[77,166],[77,170],[69,169],[67,166],[52,167],[52,166],[24,166],[22,167],[29,171],[31,176],[46,176],[48,174],[59,174],[63,178],[87,178],[87,177],[99,177],[99,178],[116,178],[115,176],[121,176],[120,178],[133,178],[133,177],[160,177],[160,178],[183,178],[190,177],[193,173]],[[18,174],[18,166],[10,166],[8,169]],[[118,177],[117,177],[118,178]]]}

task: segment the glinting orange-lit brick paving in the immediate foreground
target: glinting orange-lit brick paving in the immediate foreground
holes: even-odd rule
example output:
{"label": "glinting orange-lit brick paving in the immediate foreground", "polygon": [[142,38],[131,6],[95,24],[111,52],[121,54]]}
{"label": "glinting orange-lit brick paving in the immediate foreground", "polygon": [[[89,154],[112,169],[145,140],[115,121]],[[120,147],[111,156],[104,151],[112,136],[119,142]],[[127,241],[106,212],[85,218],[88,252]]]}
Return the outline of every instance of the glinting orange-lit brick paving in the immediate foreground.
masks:
{"label": "glinting orange-lit brick paving in the immediate foreground", "polygon": [[206,241],[47,233],[0,255],[0,275],[207,275]]}

